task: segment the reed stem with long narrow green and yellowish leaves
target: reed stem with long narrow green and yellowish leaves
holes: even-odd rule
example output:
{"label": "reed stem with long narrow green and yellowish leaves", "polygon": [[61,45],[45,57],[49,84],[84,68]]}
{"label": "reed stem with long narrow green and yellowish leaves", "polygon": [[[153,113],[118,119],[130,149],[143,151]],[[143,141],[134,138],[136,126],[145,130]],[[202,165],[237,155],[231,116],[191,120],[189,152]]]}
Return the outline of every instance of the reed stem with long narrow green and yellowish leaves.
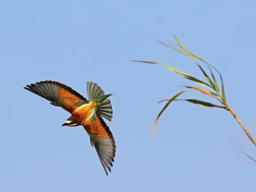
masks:
{"label": "reed stem with long narrow green and yellowish leaves", "polygon": [[[221,73],[215,67],[213,67],[211,65],[211,63],[209,63],[208,61],[206,61],[206,60],[196,56],[195,54],[189,52],[188,49],[186,49],[186,47],[180,42],[180,40],[175,35],[173,35],[173,37],[177,41],[177,47],[175,47],[171,44],[165,44],[165,43],[160,42],[158,40],[156,40],[156,41],[159,42],[162,45],[170,47],[171,49],[174,49],[175,51],[181,52],[182,54],[192,58],[193,61],[195,61],[195,64],[197,65],[197,67],[200,68],[200,71],[202,72],[202,74],[204,74],[205,80],[202,81],[200,79],[197,79],[196,77],[190,76],[189,74],[186,74],[185,72],[182,72],[182,71],[178,70],[177,68],[171,67],[169,65],[163,65],[161,63],[156,63],[156,62],[152,62],[152,61],[138,61],[137,60],[138,62],[141,62],[141,63],[150,63],[150,64],[154,64],[154,65],[161,65],[161,66],[167,68],[168,70],[171,70],[172,72],[175,72],[179,76],[182,76],[186,79],[189,79],[190,81],[193,81],[193,83],[196,83],[200,86],[200,87],[184,86],[184,88],[186,88],[187,90],[177,93],[171,99],[164,99],[164,100],[160,101],[160,102],[163,102],[163,101],[167,101],[167,102],[166,102],[164,108],[160,111],[159,115],[157,115],[157,118],[156,118],[156,121],[155,121],[155,124],[154,124],[152,138],[154,137],[154,133],[156,131],[156,125],[157,125],[157,121],[159,120],[159,117],[162,115],[164,110],[170,105],[170,103],[173,102],[173,101],[178,101],[178,100],[186,100],[188,102],[191,102],[193,104],[197,104],[197,105],[200,105],[200,106],[205,106],[205,107],[210,107],[210,108],[220,108],[220,109],[225,109],[225,110],[229,111],[234,116],[234,118],[237,120],[238,124],[242,127],[242,129],[244,130],[244,132],[246,133],[248,138],[252,141],[252,143],[254,145],[256,145],[256,141],[253,139],[252,135],[247,131],[247,129],[241,123],[241,121],[239,120],[235,111],[232,108],[230,108],[230,106],[227,104],[227,99],[226,99],[226,96],[225,96],[225,89],[224,89],[224,84],[223,84],[223,79],[222,79]],[[207,67],[209,68],[209,74],[207,74],[207,72],[205,72],[205,70],[199,64],[199,62],[200,63],[205,63],[205,65],[207,65]],[[214,74],[215,75],[218,74],[218,76],[220,76],[221,86],[220,86],[220,84],[218,84],[218,81],[215,78]],[[220,102],[220,105],[212,104],[211,102],[205,102],[205,101],[197,100],[197,99],[177,99],[179,97],[179,95],[187,92],[188,90],[193,90],[195,92],[200,92],[204,95],[212,97],[212,98],[218,100],[218,102]]]}

